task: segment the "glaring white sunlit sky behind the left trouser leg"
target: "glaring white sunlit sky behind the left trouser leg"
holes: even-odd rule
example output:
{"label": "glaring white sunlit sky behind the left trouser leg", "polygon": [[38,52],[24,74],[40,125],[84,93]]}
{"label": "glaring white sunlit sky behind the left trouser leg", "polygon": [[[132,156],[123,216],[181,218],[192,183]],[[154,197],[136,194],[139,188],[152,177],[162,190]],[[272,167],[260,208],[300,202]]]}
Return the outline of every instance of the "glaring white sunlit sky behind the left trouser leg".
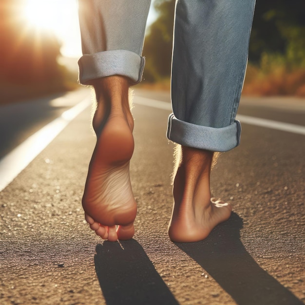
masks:
{"label": "glaring white sunlit sky behind the left trouser leg", "polygon": [[[47,14],[41,14],[47,12]],[[77,16],[77,0],[25,0],[25,18],[36,27],[53,31],[61,41],[61,54],[80,57],[81,43]],[[147,25],[156,18],[153,1]]]}

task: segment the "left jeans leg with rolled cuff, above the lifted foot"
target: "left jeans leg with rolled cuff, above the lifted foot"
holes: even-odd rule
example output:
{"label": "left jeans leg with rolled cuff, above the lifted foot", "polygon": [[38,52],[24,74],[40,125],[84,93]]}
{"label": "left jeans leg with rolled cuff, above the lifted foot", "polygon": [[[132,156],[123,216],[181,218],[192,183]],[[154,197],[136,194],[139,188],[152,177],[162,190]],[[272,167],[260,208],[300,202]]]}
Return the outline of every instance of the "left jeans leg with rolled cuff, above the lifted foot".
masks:
{"label": "left jeans leg with rolled cuff, above the lifted foot", "polygon": [[143,50],[150,0],[78,0],[83,56],[79,82],[123,75],[141,81]]}

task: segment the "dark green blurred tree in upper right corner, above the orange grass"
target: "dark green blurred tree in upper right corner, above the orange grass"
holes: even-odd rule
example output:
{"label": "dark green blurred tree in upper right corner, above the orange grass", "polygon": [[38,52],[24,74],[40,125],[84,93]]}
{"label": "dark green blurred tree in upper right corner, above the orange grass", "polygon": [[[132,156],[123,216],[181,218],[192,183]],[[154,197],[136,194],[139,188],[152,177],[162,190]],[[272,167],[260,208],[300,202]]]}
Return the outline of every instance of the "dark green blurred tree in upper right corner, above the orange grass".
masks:
{"label": "dark green blurred tree in upper right corner, above the orange grass", "polygon": [[257,0],[249,46],[249,60],[262,54],[281,54],[291,63],[305,64],[305,1]]}

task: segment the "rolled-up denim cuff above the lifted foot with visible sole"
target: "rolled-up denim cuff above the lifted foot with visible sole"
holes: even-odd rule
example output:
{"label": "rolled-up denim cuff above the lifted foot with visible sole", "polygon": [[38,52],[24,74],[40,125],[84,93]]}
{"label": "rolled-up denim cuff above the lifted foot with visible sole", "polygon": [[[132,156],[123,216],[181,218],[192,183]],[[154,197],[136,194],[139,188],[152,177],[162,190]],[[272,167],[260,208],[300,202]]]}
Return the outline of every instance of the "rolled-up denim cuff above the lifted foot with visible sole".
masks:
{"label": "rolled-up denim cuff above the lifted foot with visible sole", "polygon": [[145,59],[131,51],[113,50],[84,54],[78,60],[79,82],[83,85],[105,76],[121,75],[133,84],[141,81]]}

